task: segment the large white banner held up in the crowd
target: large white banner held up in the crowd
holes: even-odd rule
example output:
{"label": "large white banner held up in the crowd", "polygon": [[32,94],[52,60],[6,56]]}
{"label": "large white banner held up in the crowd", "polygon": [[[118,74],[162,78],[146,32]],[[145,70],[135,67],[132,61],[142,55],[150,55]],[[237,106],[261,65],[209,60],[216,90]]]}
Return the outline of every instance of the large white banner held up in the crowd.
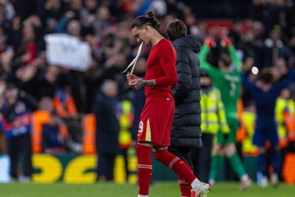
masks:
{"label": "large white banner held up in the crowd", "polygon": [[65,33],[51,33],[44,37],[46,58],[49,64],[78,71],[87,71],[91,61],[91,49],[87,42]]}

